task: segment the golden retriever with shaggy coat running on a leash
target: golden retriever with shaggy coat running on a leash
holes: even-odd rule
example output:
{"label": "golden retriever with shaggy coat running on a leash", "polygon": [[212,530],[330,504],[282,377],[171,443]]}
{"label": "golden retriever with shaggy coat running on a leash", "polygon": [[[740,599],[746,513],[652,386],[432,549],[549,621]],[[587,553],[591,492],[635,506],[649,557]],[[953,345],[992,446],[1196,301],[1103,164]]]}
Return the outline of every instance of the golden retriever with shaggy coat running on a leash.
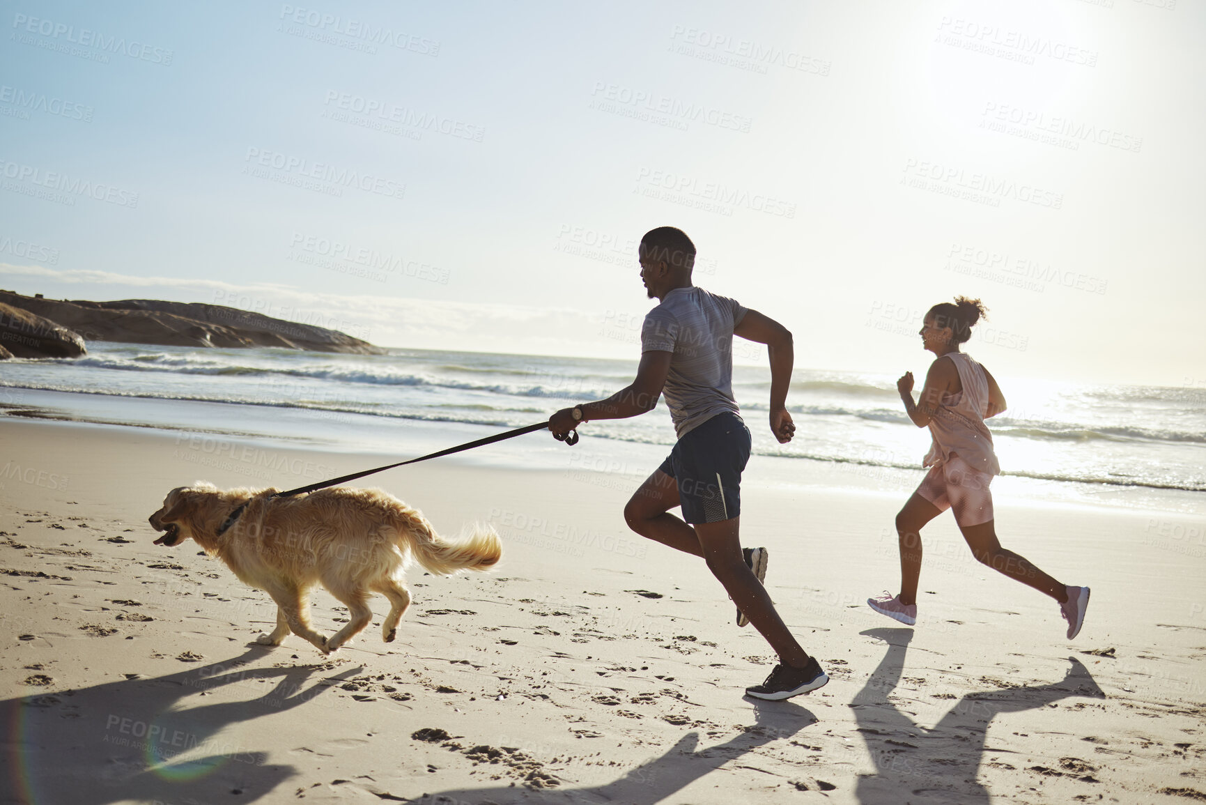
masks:
{"label": "golden retriever with shaggy coat running on a leash", "polygon": [[[373,619],[368,600],[390,600],[381,624],[392,642],[410,606],[403,571],[411,560],[437,574],[487,570],[502,556],[498,535],[476,529],[467,539],[445,542],[422,514],[380,489],[334,486],[295,497],[271,497],[276,489],[230,489],[198,482],[178,486],[151,515],[169,548],[192,537],[241,582],[276,601],[276,629],[256,641],[280,646],[293,631],[324,654],[338,649]],[[232,513],[241,514],[228,523]],[[223,531],[223,526],[227,526]],[[219,533],[221,532],[221,533]],[[310,625],[309,591],[322,584],[347,606],[349,623],[332,637]]]}

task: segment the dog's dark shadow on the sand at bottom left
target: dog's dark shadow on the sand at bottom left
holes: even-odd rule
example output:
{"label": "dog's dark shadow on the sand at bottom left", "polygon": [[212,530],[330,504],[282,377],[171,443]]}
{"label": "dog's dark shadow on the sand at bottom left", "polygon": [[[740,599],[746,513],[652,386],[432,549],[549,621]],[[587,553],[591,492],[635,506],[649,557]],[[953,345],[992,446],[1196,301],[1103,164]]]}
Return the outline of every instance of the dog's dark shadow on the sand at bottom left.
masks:
{"label": "dog's dark shadow on the sand at bottom left", "polygon": [[[150,679],[0,701],[7,725],[0,801],[256,801],[297,771],[268,764],[265,752],[239,745],[223,730],[303,705],[359,671],[315,678],[306,687],[321,666],[244,667],[269,651],[251,648],[224,663]],[[198,694],[253,679],[276,684],[257,699],[197,704]]]}

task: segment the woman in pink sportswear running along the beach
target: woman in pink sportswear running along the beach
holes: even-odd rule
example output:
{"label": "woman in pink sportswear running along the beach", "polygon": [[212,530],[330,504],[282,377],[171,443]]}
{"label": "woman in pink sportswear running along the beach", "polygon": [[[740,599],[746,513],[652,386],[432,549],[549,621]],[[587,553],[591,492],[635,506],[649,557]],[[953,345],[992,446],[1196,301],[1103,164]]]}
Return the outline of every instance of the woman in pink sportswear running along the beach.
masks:
{"label": "woman in pink sportswear running along the beach", "polygon": [[1055,599],[1067,620],[1069,640],[1077,636],[1089,605],[1089,588],[1071,587],[1001,547],[993,524],[989,484],[1001,472],[993,436],[984,420],[1005,410],[1005,396],[988,369],[959,351],[972,325],[988,309],[979,299],[955,297],[930,308],[921,327],[925,349],[937,355],[925,377],[920,403],[913,402],[913,373],[896,381],[904,410],[918,427],[930,427],[933,444],[923,466],[930,473],[896,515],[900,535],[901,591],[867,599],[876,612],[903,624],[917,623],[917,582],[921,573],[921,526],[953,509],[955,523],[978,561]]}

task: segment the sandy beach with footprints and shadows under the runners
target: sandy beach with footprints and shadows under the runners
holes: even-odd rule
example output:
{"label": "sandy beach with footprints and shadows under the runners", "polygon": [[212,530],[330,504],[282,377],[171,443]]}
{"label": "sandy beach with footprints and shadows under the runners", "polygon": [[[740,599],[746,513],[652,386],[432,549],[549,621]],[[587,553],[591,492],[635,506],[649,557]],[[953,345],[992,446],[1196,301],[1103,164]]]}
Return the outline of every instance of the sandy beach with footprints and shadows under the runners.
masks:
{"label": "sandy beach with footprints and shadows under the runners", "polygon": [[[896,628],[863,601],[896,584],[902,498],[753,476],[744,542],[769,549],[767,587],[832,677],[771,704],[742,696],[766,643],[701,561],[625,529],[607,473],[449,459],[365,479],[441,533],[492,524],[504,558],[412,568],[397,642],[369,628],[324,658],[250,646],[268,596],[192,542],[153,546],[146,518],[176,485],[247,485],[247,466],[286,488],[380,462],[12,418],[0,443],[5,803],[1206,800],[1200,517],[999,502],[1003,544],[1091,585],[1071,642],[943,518],[919,623]],[[338,629],[338,602],[312,603]]]}

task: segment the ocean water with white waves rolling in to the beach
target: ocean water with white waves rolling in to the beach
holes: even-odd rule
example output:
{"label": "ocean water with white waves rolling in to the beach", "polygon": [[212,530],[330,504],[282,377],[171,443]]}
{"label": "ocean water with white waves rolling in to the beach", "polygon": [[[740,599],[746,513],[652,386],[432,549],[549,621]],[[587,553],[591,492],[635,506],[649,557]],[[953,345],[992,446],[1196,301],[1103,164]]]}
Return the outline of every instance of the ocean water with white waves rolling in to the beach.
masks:
{"label": "ocean water with white waves rolling in to the beach", "polygon": [[[92,421],[405,456],[599,399],[624,387],[634,369],[632,361],[481,352],[394,349],[368,356],[95,343],[81,358],[0,363],[0,406],[10,415],[43,407]],[[830,473],[838,485],[854,476],[890,486],[917,483],[929,433],[904,415],[895,377],[797,368],[788,397],[796,438],[783,445],[766,426],[769,380],[765,367],[734,367],[733,392],[755,455],[797,462],[775,461],[780,474],[795,466],[815,476],[819,467],[841,471]],[[1152,495],[1169,492],[1198,507],[1206,491],[1206,390],[997,380],[1009,401],[1008,410],[989,420],[1002,482],[1025,479],[1015,486],[1038,497],[1163,507],[1170,498]],[[590,422],[582,433],[596,445],[582,455],[609,456],[602,468],[627,474],[637,474],[639,462],[616,461],[626,455],[624,445],[631,445],[627,454],[637,444],[651,448],[637,451],[642,472],[649,472],[656,466],[650,456],[674,443],[665,404],[628,420]],[[535,444],[531,438],[525,444]],[[564,455],[549,443],[534,449],[516,442],[493,455],[516,466],[549,466],[550,456]]]}

